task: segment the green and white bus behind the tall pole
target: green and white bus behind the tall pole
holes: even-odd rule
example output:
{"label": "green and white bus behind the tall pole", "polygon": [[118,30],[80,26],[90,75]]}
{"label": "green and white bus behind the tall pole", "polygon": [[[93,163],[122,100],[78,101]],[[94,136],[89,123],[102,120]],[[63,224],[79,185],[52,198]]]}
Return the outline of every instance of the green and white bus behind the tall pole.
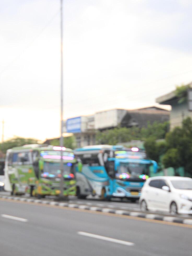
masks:
{"label": "green and white bus behind the tall pole", "polygon": [[[63,150],[63,195],[76,194],[72,149]],[[60,195],[61,147],[42,144],[29,144],[7,150],[5,158],[5,185],[11,195],[23,195],[38,198]]]}

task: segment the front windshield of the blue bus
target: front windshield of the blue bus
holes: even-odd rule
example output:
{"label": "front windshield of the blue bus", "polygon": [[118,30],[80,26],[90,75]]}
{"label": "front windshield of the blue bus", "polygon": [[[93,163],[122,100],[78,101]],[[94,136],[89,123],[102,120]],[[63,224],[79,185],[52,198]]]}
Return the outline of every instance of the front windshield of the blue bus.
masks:
{"label": "front windshield of the blue bus", "polygon": [[139,163],[120,163],[117,169],[118,173],[127,173],[132,175],[147,174],[149,172],[149,164]]}

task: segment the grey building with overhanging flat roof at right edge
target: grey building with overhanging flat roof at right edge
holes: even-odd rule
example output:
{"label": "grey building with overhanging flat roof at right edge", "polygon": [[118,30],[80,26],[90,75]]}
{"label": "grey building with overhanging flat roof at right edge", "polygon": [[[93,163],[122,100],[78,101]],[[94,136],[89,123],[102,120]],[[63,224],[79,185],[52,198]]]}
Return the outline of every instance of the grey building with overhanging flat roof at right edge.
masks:
{"label": "grey building with overhanging flat roof at right edge", "polygon": [[[192,88],[192,83],[186,85]],[[170,111],[170,129],[172,130],[176,126],[181,126],[182,121],[186,117],[192,118],[192,112],[189,110],[188,100],[179,102],[179,98],[176,96],[176,91],[172,91],[168,94],[156,98],[156,102],[163,105],[171,105]]]}

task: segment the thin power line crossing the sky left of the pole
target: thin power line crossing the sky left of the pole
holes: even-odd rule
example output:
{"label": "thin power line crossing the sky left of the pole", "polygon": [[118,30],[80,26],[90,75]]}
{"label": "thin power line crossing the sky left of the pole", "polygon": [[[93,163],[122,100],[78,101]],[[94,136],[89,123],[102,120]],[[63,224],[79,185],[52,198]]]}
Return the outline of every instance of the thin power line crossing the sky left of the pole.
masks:
{"label": "thin power line crossing the sky left of the pole", "polygon": [[7,66],[5,66],[2,71],[0,72],[0,75],[3,74],[7,68],[9,68],[17,59],[20,58],[20,56],[22,54],[25,53],[25,51],[33,44],[33,42],[43,33],[43,31],[51,24],[51,22],[55,19],[55,17],[59,14],[60,10],[57,10],[57,12],[53,15],[53,17],[47,22],[47,24],[42,28],[42,30],[40,30],[40,32],[38,33],[38,35],[36,37],[34,37],[31,42],[29,42],[25,49],[23,51],[21,51]]}

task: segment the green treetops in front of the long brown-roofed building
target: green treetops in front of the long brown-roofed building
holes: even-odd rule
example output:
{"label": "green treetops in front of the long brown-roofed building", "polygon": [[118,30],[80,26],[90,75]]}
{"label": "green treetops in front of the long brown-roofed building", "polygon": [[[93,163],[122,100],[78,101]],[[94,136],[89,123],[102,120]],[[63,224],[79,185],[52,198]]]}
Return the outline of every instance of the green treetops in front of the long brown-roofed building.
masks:
{"label": "green treetops in front of the long brown-roofed building", "polygon": [[146,128],[139,127],[117,127],[110,130],[98,131],[96,133],[96,141],[98,144],[116,145],[121,142],[128,142],[132,139],[145,140],[148,137],[154,137],[155,139],[165,138],[166,132],[169,129],[169,123],[154,122],[148,123]]}

